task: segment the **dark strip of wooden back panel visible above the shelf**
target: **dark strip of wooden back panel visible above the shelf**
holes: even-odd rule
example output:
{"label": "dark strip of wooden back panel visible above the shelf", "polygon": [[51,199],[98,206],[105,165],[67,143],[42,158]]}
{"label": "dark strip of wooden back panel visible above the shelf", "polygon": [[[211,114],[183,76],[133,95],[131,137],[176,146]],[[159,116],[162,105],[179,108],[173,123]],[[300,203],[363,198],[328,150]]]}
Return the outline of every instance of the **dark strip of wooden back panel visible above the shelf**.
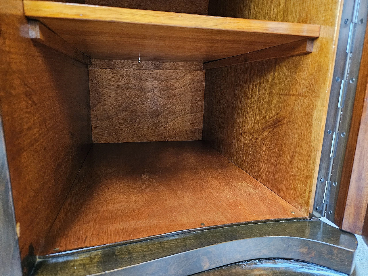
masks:
{"label": "dark strip of wooden back panel visible above the shelf", "polygon": [[208,0],[85,0],[85,4],[173,13],[208,14]]}

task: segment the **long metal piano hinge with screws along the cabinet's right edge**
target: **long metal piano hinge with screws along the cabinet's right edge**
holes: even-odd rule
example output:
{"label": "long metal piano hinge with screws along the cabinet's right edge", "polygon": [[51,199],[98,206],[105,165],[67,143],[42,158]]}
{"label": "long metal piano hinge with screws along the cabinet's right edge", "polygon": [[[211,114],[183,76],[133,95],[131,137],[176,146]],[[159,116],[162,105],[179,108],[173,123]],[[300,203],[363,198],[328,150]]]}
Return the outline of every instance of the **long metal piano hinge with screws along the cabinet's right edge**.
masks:
{"label": "long metal piano hinge with screws along the cabinet's right edge", "polygon": [[[359,13],[360,8],[362,11]],[[367,3],[361,2],[360,0],[346,1],[344,3],[340,26],[334,69],[336,82],[334,81],[331,87],[328,120],[326,120],[326,134],[323,142],[313,211],[315,216],[326,216],[332,221],[347,140],[339,138],[340,136],[345,137],[350,127],[350,121],[347,118],[349,116],[351,118],[353,107],[351,101],[354,99],[353,96],[355,97],[356,84],[354,82],[360,66],[360,51],[363,47],[365,32],[365,28],[363,32],[362,26],[366,24],[364,20],[367,18],[367,9]],[[350,25],[347,26],[349,22]],[[357,28],[358,25],[359,28]],[[358,36],[356,36],[357,32]],[[357,46],[355,46],[355,43],[357,43]],[[337,96],[338,98],[336,98]],[[349,101],[346,102],[347,98]],[[344,106],[347,107],[344,108]],[[339,145],[340,140],[342,141],[342,145]]]}

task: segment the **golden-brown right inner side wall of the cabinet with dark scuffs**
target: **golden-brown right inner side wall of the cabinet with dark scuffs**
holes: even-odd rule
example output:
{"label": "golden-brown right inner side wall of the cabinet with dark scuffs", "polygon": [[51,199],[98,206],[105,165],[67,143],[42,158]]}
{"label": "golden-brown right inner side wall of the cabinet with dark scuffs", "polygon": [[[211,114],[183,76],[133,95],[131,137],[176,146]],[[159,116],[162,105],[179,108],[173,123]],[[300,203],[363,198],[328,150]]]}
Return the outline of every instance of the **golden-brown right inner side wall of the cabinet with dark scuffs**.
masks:
{"label": "golden-brown right inner side wall of the cabinet with dark scuffs", "polygon": [[203,139],[308,215],[321,157],[341,3],[209,3],[210,15],[321,25],[312,53],[206,70],[205,84]]}

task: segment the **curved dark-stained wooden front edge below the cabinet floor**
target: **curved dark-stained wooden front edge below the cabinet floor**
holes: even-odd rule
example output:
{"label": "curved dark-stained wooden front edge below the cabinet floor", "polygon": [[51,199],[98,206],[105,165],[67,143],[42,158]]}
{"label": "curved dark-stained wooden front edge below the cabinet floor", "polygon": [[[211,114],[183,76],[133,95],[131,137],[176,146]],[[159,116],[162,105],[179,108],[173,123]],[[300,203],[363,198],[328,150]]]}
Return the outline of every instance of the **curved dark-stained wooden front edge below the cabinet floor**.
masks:
{"label": "curved dark-stained wooden front edge below the cabinet floor", "polygon": [[356,247],[354,235],[318,219],[253,223],[49,256],[39,259],[33,275],[191,275],[257,258],[296,259],[350,274]]}

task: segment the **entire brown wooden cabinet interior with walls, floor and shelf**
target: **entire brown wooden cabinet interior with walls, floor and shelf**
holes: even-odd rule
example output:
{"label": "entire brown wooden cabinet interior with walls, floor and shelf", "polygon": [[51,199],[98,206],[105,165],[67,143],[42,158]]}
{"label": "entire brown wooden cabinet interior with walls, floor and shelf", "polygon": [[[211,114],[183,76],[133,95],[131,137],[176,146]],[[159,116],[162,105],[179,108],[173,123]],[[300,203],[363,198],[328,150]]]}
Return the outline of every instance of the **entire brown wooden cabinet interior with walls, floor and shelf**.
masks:
{"label": "entire brown wooden cabinet interior with walls, floor and shelf", "polygon": [[[212,17],[200,2],[5,0],[1,110],[22,258],[311,213],[340,1],[210,0]],[[21,35],[23,13],[92,65]],[[268,50],[279,59],[202,70],[297,42]],[[309,54],[290,57],[300,45]]]}

